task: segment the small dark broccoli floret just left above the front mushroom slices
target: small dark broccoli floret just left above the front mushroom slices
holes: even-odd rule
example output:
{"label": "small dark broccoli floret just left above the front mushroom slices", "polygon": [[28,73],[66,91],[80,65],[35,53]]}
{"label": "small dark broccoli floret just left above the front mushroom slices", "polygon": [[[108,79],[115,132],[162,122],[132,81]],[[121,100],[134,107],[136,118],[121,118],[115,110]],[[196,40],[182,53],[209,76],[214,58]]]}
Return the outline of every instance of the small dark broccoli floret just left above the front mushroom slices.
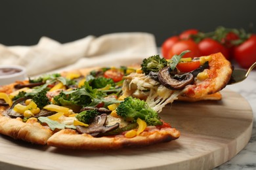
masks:
{"label": "small dark broccoli floret just left above the front mushroom slices", "polygon": [[83,122],[85,124],[90,124],[91,122],[93,122],[93,119],[98,115],[100,115],[100,112],[98,112],[95,109],[84,110],[83,112],[80,112],[79,114],[77,114],[75,118],[77,118],[77,120],[79,120],[80,122]]}

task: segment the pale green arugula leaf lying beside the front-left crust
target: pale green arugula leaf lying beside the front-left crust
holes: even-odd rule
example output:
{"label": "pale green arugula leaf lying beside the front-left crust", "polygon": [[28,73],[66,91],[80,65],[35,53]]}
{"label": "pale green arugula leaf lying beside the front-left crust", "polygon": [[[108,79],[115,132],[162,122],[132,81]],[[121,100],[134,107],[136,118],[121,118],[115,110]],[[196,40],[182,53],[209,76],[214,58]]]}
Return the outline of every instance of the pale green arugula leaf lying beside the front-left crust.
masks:
{"label": "pale green arugula leaf lying beside the front-left crust", "polygon": [[65,128],[76,129],[74,125],[60,124],[59,122],[56,122],[54,120],[51,120],[43,116],[40,116],[38,120],[40,120],[40,122],[47,124],[53,131],[54,129],[65,129]]}

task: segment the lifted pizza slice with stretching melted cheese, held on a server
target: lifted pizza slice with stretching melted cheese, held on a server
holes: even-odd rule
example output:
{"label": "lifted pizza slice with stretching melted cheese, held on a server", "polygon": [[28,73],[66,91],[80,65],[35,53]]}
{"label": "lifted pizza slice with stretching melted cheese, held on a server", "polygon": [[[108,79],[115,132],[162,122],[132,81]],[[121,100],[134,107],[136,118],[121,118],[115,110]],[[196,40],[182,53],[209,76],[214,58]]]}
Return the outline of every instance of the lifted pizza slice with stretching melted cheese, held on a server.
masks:
{"label": "lifted pizza slice with stretching melted cheese, held on a server", "polygon": [[[184,55],[184,53],[183,53]],[[232,65],[221,53],[200,58],[160,56],[144,59],[141,70],[125,76],[123,95],[144,99],[157,112],[175,99],[221,99],[232,74]]]}

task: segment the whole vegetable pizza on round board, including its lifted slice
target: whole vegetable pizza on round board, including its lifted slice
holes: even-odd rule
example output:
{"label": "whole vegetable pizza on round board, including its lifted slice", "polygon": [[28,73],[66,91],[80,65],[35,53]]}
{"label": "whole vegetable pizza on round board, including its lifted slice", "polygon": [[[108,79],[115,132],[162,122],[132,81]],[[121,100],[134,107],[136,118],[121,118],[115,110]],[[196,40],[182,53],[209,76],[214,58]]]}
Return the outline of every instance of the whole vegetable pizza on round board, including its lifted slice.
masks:
{"label": "whole vegetable pizza on round board, including its lifted slice", "polygon": [[222,54],[151,56],[140,66],[81,69],[2,86],[0,133],[86,150],[169,142],[180,132],[160,118],[161,109],[175,99],[220,99],[232,73]]}

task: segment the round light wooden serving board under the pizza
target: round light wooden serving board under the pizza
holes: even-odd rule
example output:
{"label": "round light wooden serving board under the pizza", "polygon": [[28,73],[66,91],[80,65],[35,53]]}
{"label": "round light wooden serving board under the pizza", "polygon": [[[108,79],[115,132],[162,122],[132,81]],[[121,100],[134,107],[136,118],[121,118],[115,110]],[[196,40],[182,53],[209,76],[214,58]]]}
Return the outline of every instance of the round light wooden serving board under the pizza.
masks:
{"label": "round light wooden serving board under the pizza", "polygon": [[181,131],[170,143],[121,150],[67,150],[0,135],[0,169],[212,169],[248,143],[253,113],[238,93],[221,101],[177,102],[161,112]]}

